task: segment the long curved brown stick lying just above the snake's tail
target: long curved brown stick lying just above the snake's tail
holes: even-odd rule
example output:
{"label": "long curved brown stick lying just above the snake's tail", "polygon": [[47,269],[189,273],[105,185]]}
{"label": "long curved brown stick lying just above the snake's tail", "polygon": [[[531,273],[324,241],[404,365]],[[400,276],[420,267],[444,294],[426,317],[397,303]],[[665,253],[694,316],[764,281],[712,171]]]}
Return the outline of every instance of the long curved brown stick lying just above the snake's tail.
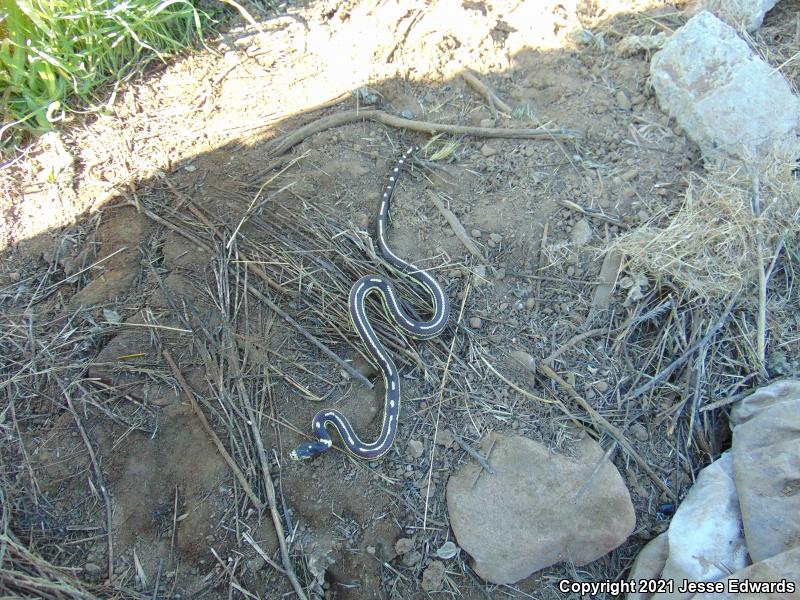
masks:
{"label": "long curved brown stick lying just above the snake's tail", "polygon": [[452,135],[472,135],[475,137],[486,138],[509,138],[509,139],[543,139],[543,140],[574,140],[583,137],[579,131],[562,129],[501,129],[497,127],[467,127],[462,125],[445,125],[444,123],[430,123],[427,121],[413,121],[390,115],[381,110],[349,110],[341,113],[322,117],[288,133],[283,137],[275,139],[269,150],[272,156],[279,156],[292,146],[302,142],[309,136],[331,129],[340,127],[348,123],[357,121],[375,121],[388,127],[396,129],[408,129],[421,133],[448,133]]}

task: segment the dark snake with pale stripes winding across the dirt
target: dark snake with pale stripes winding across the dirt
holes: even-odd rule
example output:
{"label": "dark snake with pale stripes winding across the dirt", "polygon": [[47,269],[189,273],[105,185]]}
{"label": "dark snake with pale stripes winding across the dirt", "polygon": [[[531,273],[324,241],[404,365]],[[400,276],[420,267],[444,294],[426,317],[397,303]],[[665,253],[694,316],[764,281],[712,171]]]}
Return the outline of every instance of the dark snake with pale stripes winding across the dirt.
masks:
{"label": "dark snake with pale stripes winding across the dirt", "polygon": [[367,358],[383,374],[384,401],[383,423],[380,434],[372,442],[363,441],[353,429],[347,418],[338,410],[324,409],[311,420],[312,441],[301,443],[289,456],[293,460],[312,459],[330,450],[333,446],[328,427],[339,434],[345,448],[354,456],[362,459],[377,459],[386,454],[394,443],[400,417],[400,375],[391,354],[383,342],[375,334],[366,314],[366,301],[376,295],[387,317],[398,329],[409,336],[427,340],[438,336],[447,325],[449,301],[441,285],[430,273],[397,256],[389,248],[386,233],[389,226],[389,207],[403,165],[409,161],[414,148],[409,148],[397,161],[389,176],[387,185],[382,190],[381,205],[378,211],[377,241],[383,258],[402,276],[422,287],[430,296],[433,316],[427,321],[418,321],[398,301],[397,290],[383,275],[366,275],[356,281],[350,289],[349,313],[350,321],[367,349]]}

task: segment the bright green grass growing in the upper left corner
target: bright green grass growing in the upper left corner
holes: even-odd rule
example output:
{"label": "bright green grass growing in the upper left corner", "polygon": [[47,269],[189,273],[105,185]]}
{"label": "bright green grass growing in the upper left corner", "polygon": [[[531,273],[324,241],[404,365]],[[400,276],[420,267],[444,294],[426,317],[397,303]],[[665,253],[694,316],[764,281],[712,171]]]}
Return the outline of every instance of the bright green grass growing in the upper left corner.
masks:
{"label": "bright green grass growing in the upper left corner", "polygon": [[205,19],[189,0],[4,0],[0,6],[6,123],[0,134],[10,131],[9,139],[51,129],[74,98],[91,104],[99,85],[190,45]]}

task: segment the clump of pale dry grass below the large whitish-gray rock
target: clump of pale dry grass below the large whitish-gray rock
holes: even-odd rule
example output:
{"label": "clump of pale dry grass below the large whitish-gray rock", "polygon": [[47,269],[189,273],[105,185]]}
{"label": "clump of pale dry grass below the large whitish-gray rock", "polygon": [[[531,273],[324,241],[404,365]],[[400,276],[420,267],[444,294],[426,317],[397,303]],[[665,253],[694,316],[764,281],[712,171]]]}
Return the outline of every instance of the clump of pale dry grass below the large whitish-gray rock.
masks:
{"label": "clump of pale dry grass below the large whitish-gray rock", "polygon": [[666,225],[654,220],[620,236],[614,249],[629,257],[629,270],[706,302],[740,292],[755,300],[747,290],[784,245],[795,245],[799,226],[800,184],[788,169],[760,177],[715,170],[692,176]]}

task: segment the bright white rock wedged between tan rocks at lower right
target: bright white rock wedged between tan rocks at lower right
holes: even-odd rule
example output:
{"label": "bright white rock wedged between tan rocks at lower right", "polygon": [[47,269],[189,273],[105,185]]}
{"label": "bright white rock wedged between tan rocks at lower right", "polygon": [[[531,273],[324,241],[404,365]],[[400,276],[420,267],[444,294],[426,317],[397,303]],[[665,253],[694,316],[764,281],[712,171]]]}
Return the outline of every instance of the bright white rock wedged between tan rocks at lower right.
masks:
{"label": "bright white rock wedged between tan rocks at lower right", "polygon": [[674,582],[674,594],[652,600],[688,598],[678,594],[684,580],[717,581],[747,565],[747,549],[733,482],[733,457],[726,452],[700,471],[672,517],[667,531],[669,555],[661,579]]}

